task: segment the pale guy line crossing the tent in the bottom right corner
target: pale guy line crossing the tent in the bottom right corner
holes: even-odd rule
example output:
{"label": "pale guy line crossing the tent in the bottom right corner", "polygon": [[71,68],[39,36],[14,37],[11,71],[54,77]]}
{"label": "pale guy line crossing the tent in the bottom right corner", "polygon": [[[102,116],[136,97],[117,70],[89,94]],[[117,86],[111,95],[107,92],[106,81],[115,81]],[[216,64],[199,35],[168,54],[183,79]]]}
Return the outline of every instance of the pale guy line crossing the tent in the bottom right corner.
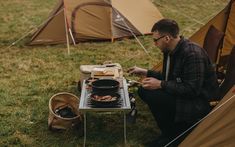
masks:
{"label": "pale guy line crossing the tent in the bottom right corner", "polygon": [[223,102],[221,105],[219,105],[218,107],[216,107],[215,109],[213,109],[209,114],[207,114],[205,117],[203,117],[202,119],[200,119],[199,121],[197,121],[195,124],[193,124],[191,127],[189,127],[187,130],[185,130],[183,133],[181,133],[180,135],[178,135],[176,138],[174,138],[172,141],[170,141],[168,144],[166,144],[164,147],[168,147],[169,145],[171,145],[174,141],[176,141],[177,139],[179,139],[181,136],[183,136],[185,133],[187,133],[188,131],[190,131],[192,128],[194,128],[196,125],[198,125],[199,123],[201,123],[203,120],[205,120],[206,118],[208,118],[210,115],[212,115],[213,113],[215,113],[218,109],[220,109],[222,106],[224,106],[226,103],[228,103],[229,101],[231,101],[233,98],[235,97],[235,94],[233,94],[229,99],[227,99],[225,102]]}

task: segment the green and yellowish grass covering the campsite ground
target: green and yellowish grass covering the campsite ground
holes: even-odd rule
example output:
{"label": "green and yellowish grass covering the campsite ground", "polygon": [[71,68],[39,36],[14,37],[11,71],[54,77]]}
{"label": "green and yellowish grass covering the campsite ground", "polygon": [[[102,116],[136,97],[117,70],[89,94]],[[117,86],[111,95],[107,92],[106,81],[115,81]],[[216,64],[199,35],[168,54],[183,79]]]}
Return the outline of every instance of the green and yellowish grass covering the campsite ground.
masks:
{"label": "green and yellowish grass covering the campsite ground", "polygon": [[[8,48],[49,15],[57,0],[0,1],[0,146],[82,146],[77,130],[51,132],[47,128],[48,101],[58,92],[77,90],[79,67],[112,60],[126,70],[138,65],[151,68],[161,60],[151,36],[139,37],[150,57],[134,39],[114,43],[80,43],[66,45],[25,46],[29,37]],[[176,19],[186,37],[206,23],[227,0],[154,0],[165,17]],[[125,76],[127,76],[125,74]],[[135,91],[135,90],[134,90]],[[147,106],[137,99],[138,118],[127,125],[127,146],[141,146],[160,134]],[[123,146],[122,115],[88,115],[90,146]]]}

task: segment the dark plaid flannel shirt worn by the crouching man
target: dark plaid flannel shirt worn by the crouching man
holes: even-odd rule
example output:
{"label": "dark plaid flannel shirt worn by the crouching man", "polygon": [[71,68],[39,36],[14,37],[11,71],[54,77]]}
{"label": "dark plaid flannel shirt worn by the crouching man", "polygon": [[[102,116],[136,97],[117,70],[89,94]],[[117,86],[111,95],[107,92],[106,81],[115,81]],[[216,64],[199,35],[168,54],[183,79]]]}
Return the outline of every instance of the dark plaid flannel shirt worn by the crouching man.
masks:
{"label": "dark plaid flannel shirt worn by the crouching man", "polygon": [[176,97],[175,121],[194,122],[210,111],[209,100],[218,91],[216,73],[207,53],[181,37],[170,53],[168,81],[165,81],[167,53],[163,72],[148,71],[147,76],[162,79],[162,89]]}

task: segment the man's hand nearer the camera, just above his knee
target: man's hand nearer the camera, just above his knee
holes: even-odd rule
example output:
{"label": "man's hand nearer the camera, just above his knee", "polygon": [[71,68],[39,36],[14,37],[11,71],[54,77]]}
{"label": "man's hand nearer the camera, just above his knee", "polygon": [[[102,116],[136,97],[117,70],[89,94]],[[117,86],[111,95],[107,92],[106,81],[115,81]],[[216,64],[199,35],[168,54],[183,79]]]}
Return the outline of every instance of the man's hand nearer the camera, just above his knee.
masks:
{"label": "man's hand nearer the camera, just above his knee", "polygon": [[161,82],[162,82],[161,80],[158,80],[158,79],[152,78],[152,77],[144,78],[142,80],[142,87],[144,89],[149,89],[149,90],[160,89]]}

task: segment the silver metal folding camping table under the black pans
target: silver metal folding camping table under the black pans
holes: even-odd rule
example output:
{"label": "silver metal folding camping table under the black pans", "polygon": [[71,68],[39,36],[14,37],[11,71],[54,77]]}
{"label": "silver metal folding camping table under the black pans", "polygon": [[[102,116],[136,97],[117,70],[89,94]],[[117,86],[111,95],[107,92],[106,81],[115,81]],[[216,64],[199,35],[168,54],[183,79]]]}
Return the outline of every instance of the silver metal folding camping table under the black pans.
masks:
{"label": "silver metal folding camping table under the black pans", "polygon": [[126,79],[122,78],[120,82],[120,88],[118,93],[120,94],[120,99],[115,107],[105,107],[105,108],[98,108],[91,103],[90,95],[91,90],[87,88],[87,84],[85,80],[82,84],[82,93],[79,103],[79,110],[84,115],[84,142],[83,146],[86,145],[86,136],[87,136],[87,112],[122,112],[123,113],[123,136],[124,136],[124,143],[126,144],[126,113],[131,110],[128,87],[126,83]]}

